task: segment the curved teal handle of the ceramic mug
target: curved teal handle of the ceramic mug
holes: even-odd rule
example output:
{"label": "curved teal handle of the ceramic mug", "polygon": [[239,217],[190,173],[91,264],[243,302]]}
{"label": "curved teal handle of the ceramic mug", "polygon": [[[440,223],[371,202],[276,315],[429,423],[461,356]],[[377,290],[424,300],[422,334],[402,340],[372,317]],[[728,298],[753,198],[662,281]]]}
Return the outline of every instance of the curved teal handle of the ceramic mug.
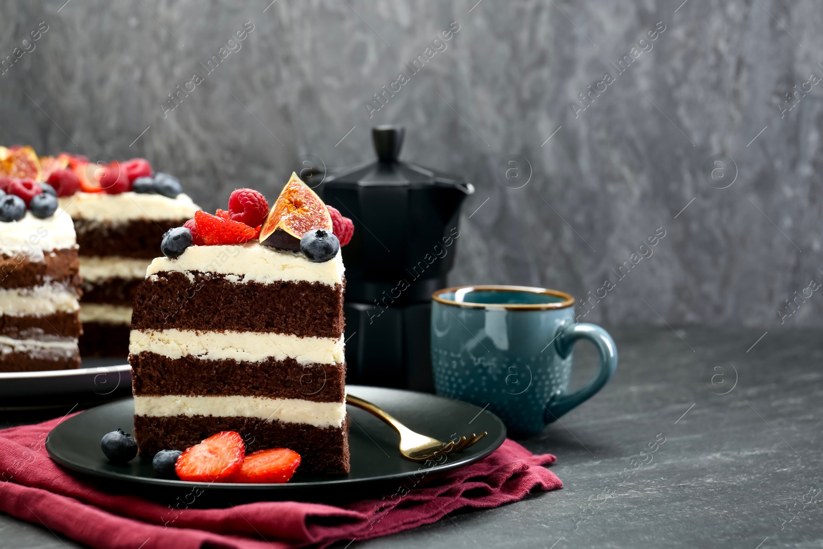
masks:
{"label": "curved teal handle of the ceramic mug", "polygon": [[594,379],[574,393],[558,393],[552,396],[546,403],[546,413],[543,414],[543,421],[546,421],[546,424],[555,421],[572,408],[592,398],[594,393],[607,384],[617,369],[617,347],[603,328],[595,324],[575,323],[562,325],[558,331],[560,333],[555,337],[555,348],[560,358],[569,356],[577,340],[585,339],[597,347],[597,353],[600,355],[600,371]]}

